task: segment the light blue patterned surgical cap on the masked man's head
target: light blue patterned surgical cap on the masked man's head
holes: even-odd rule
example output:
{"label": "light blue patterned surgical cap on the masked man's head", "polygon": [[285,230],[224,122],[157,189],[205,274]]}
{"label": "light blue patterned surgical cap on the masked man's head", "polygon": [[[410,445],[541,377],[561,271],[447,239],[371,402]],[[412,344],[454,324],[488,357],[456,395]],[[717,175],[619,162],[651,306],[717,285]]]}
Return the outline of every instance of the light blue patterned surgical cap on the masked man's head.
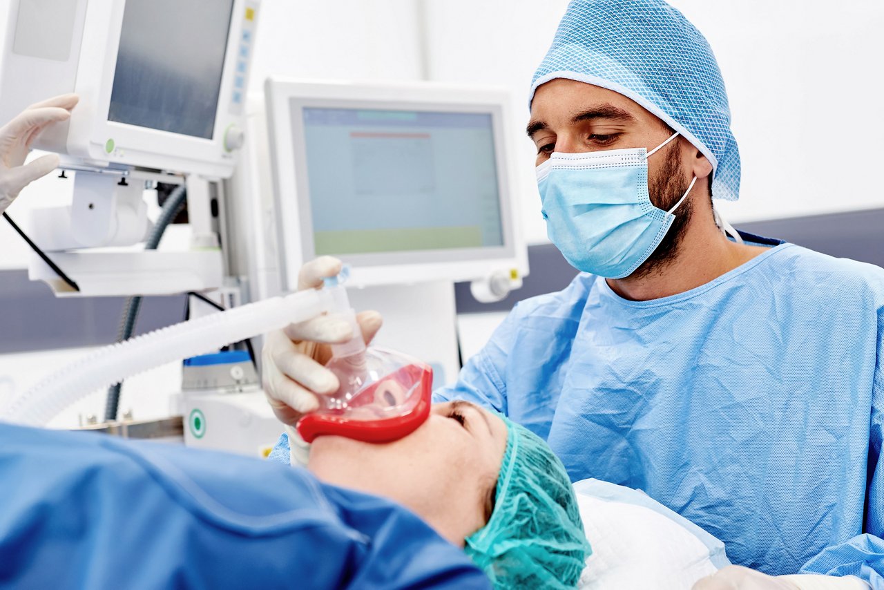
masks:
{"label": "light blue patterned surgical cap on the masked man's head", "polygon": [[681,133],[713,165],[713,197],[740,195],[740,152],[713,50],[663,0],[573,0],[530,96],[556,78],[627,96]]}

